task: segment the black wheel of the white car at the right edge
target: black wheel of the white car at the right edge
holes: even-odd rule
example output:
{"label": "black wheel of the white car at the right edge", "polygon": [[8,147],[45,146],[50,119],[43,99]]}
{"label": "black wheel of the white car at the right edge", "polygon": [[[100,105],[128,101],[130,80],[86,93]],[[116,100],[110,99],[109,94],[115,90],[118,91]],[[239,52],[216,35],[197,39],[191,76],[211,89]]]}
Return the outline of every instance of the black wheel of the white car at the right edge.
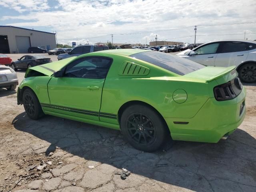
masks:
{"label": "black wheel of the white car at the right edge", "polygon": [[240,66],[238,76],[242,82],[255,83],[256,82],[256,64],[246,63]]}

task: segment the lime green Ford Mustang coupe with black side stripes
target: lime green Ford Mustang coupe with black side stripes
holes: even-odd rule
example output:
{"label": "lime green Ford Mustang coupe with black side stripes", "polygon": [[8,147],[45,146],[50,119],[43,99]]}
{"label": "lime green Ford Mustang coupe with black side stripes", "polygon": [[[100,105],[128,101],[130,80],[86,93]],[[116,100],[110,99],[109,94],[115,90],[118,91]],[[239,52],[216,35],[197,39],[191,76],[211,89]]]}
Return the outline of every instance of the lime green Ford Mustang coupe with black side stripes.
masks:
{"label": "lime green Ford Mustang coupe with black side stripes", "polygon": [[246,90],[234,67],[170,54],[106,50],[29,68],[18,88],[28,116],[44,114],[121,130],[144,151],[166,138],[218,142],[242,123]]}

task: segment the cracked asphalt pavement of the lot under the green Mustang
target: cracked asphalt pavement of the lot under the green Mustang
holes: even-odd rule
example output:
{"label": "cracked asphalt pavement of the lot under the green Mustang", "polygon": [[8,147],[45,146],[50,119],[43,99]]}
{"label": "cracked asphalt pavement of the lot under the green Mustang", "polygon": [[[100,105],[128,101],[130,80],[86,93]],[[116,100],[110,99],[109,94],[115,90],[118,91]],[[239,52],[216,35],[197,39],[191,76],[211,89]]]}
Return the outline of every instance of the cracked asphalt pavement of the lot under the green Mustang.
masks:
{"label": "cracked asphalt pavement of the lot under the green Mustang", "polygon": [[[24,71],[17,74],[21,82]],[[256,85],[246,89],[246,118],[227,140],[176,141],[154,153],[116,130],[31,120],[16,91],[0,89],[0,192],[255,192]],[[131,172],[125,180],[122,168]]]}

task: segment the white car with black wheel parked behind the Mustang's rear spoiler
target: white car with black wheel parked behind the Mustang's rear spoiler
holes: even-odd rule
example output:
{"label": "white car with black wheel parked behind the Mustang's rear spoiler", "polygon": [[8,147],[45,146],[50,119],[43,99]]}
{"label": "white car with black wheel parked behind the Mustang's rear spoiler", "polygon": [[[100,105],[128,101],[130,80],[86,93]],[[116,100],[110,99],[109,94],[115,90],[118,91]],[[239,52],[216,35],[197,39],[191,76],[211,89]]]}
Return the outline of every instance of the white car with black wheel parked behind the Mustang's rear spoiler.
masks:
{"label": "white car with black wheel parked behind the Mustang's rear spoiler", "polygon": [[221,40],[202,44],[177,56],[206,66],[236,66],[240,80],[256,82],[256,42],[245,40]]}

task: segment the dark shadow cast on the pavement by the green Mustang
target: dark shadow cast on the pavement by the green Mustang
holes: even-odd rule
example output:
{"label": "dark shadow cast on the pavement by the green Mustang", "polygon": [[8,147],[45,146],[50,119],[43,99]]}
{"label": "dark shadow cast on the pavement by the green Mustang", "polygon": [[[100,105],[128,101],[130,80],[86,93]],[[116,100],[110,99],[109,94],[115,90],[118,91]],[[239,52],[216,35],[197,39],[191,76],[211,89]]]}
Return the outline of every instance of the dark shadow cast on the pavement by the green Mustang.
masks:
{"label": "dark shadow cast on the pavement by the green Mustang", "polygon": [[127,144],[118,130],[54,116],[34,121],[23,112],[12,124],[49,142],[46,155],[59,147],[86,160],[124,167],[168,191],[175,186],[197,192],[247,191],[256,186],[256,140],[241,129],[216,144],[168,142],[161,150],[146,153]]}

